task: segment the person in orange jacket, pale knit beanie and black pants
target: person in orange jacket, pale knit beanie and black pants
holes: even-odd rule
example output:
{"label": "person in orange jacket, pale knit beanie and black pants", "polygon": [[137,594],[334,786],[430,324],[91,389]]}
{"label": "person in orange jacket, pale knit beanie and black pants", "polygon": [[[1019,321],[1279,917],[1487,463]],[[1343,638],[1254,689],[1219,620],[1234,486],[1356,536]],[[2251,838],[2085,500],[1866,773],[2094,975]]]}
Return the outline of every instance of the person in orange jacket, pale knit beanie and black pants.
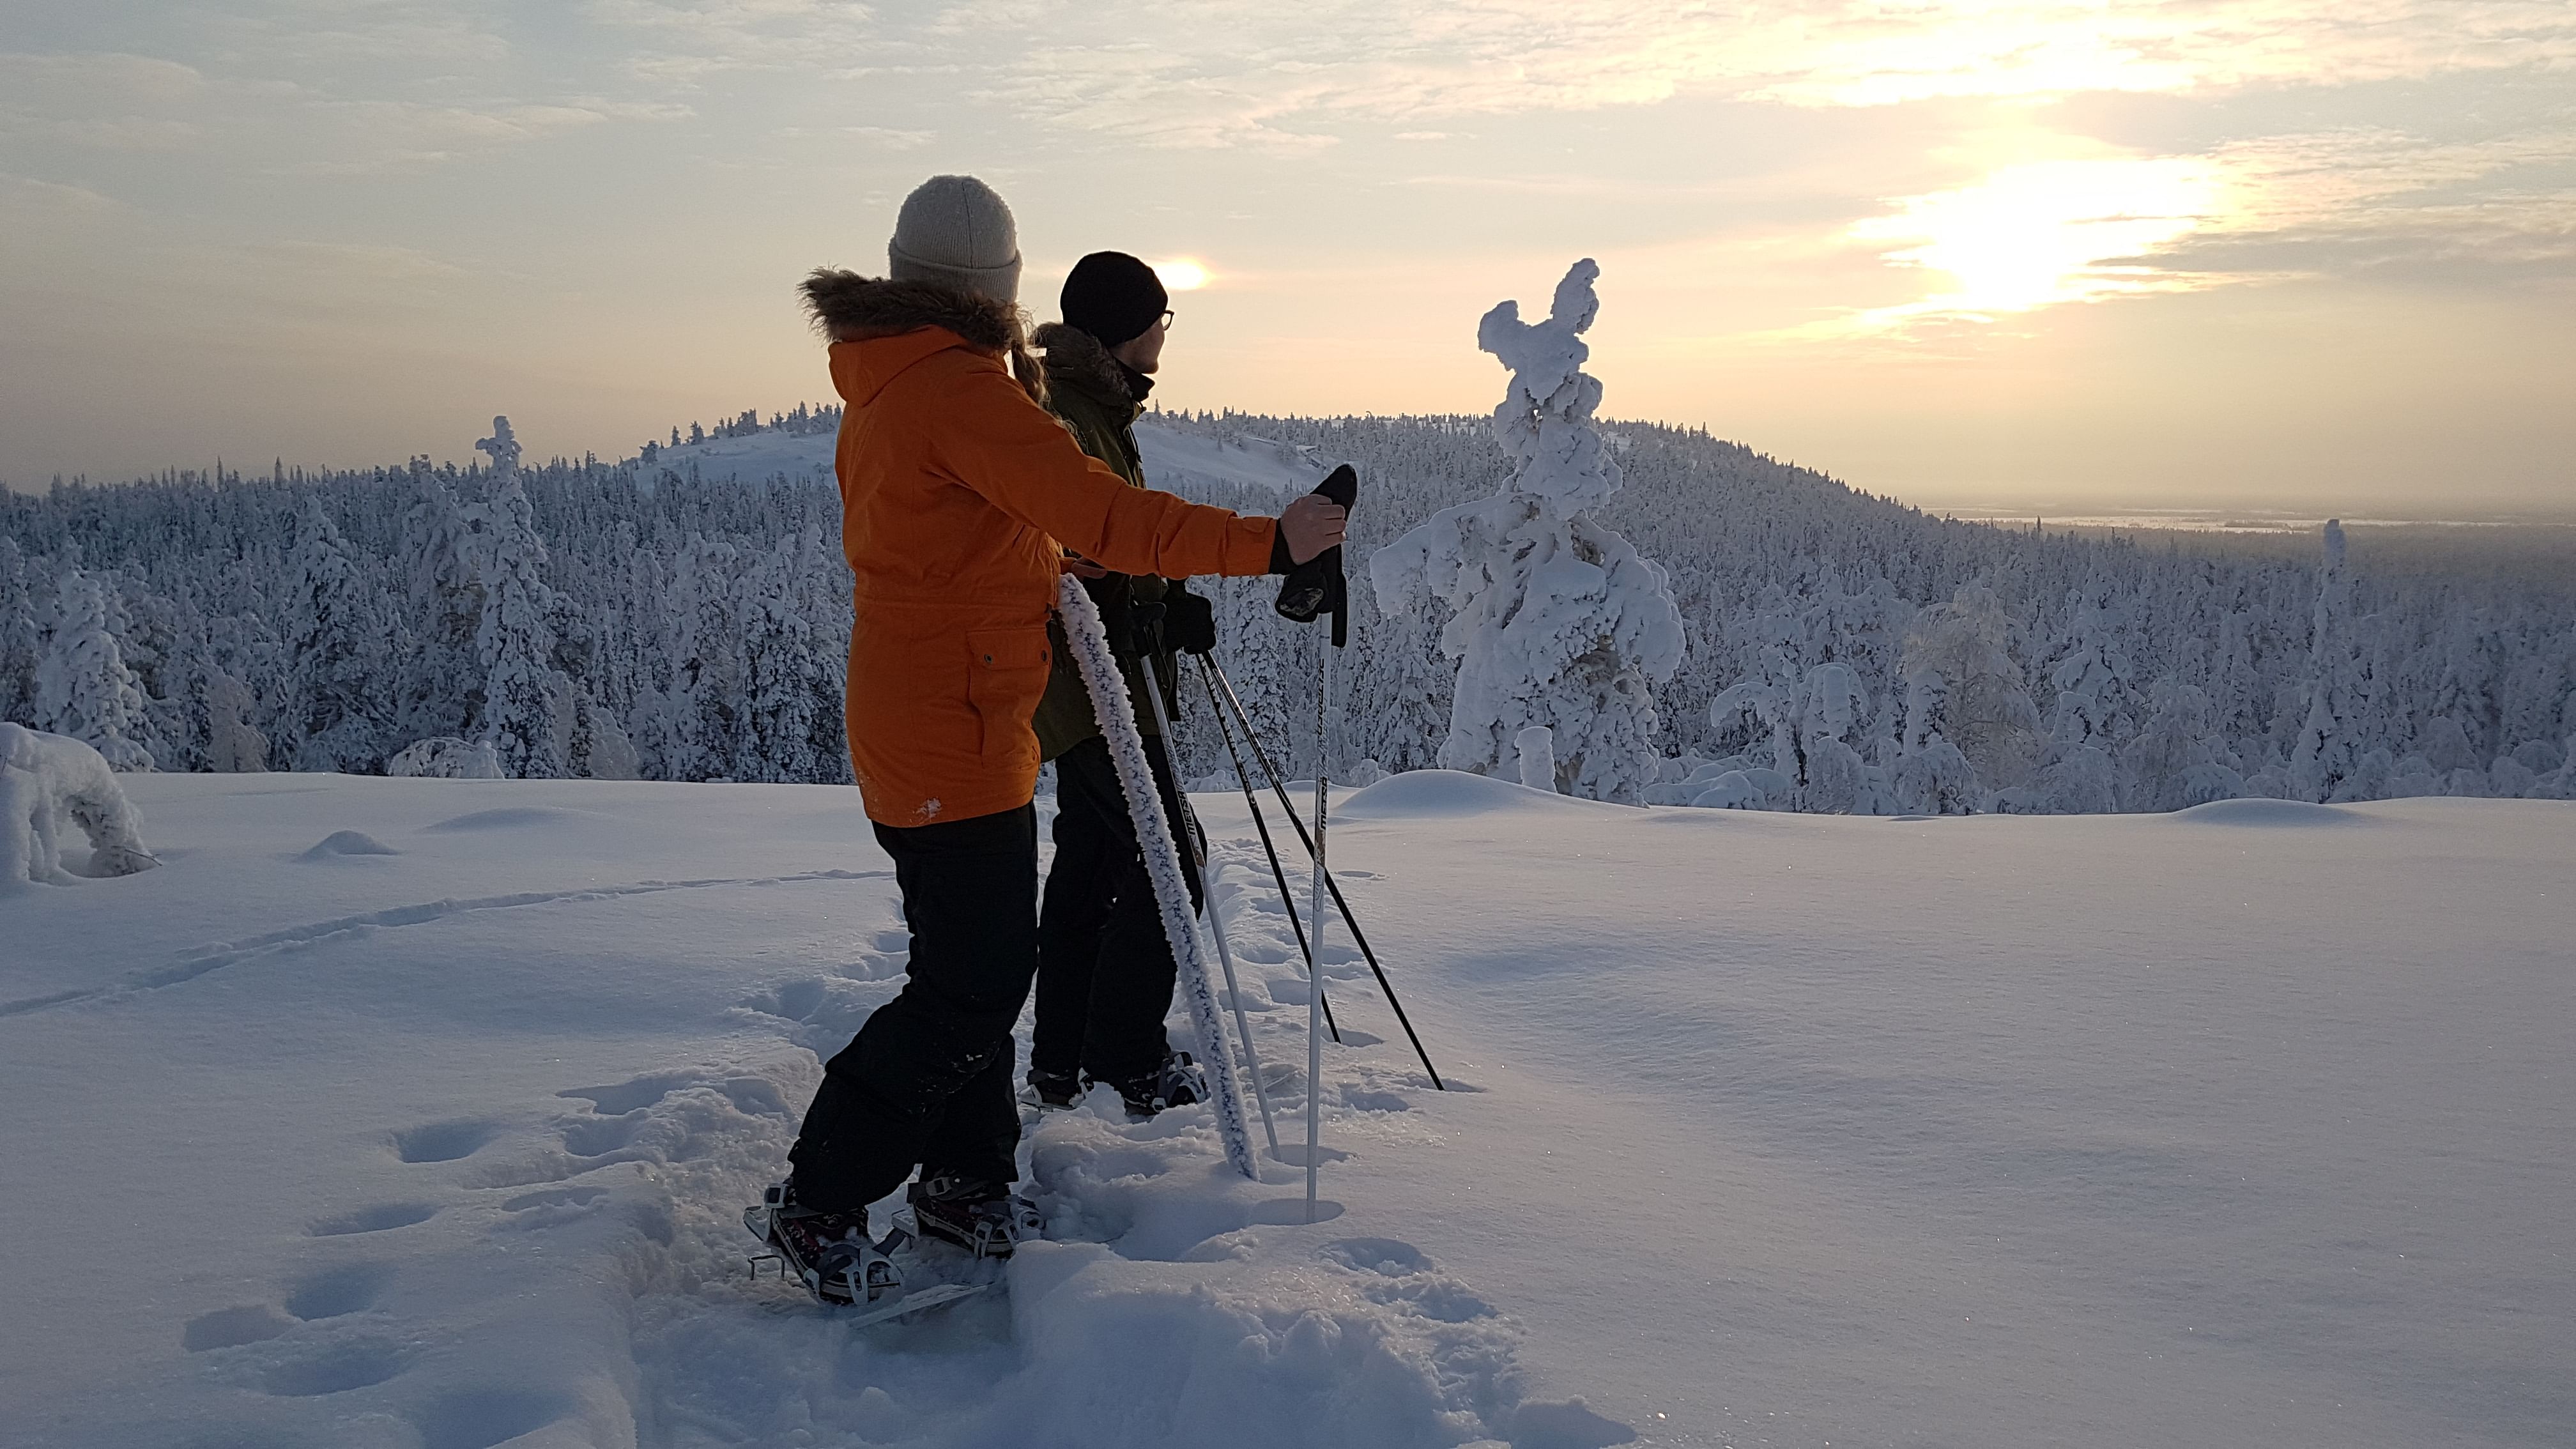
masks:
{"label": "person in orange jacket, pale knit beanie and black pants", "polygon": [[886,250],[886,281],[817,271],[804,284],[845,405],[850,766],[912,931],[902,995],[824,1067],[793,1173],[770,1194],[770,1240],[832,1302],[868,1297],[871,1274],[891,1271],[868,1204],[914,1168],[925,1232],[999,1256],[1038,1230],[1010,1191],[1010,1029],[1038,962],[1030,714],[1066,549],[1188,578],[1285,572],[1342,541],[1342,511],[1321,498],[1239,518],[1084,456],[1038,405],[1018,235],[981,180],[922,183]]}

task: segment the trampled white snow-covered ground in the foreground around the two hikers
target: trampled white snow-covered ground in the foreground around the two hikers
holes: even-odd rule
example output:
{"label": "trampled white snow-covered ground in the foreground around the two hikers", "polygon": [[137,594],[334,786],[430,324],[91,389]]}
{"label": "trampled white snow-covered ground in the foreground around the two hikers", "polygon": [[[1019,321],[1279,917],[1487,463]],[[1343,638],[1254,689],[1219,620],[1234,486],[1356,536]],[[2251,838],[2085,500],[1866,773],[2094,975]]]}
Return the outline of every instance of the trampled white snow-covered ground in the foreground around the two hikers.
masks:
{"label": "trampled white snow-covered ground in the foreground around the two hikers", "polygon": [[737,1220],[899,985],[853,792],[126,784],[162,869],[0,895],[10,1449],[2576,1441],[2566,804],[1396,776],[1334,861],[1453,1091],[1334,933],[1332,1217],[1087,1106],[1005,1297],[853,1333]]}

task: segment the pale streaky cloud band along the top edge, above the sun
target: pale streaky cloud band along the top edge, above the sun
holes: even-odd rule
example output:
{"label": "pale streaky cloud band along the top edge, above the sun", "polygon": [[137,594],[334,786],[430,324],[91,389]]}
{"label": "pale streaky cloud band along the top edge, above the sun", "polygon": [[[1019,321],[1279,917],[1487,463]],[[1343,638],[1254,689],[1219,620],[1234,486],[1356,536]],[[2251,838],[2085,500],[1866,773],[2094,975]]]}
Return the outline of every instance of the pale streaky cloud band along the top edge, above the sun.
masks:
{"label": "pale streaky cloud band along the top edge, above the sun", "polygon": [[1151,144],[1314,144],[1340,119],[1651,106],[2210,95],[2576,64],[2563,0],[989,0],[909,36],[979,95]]}

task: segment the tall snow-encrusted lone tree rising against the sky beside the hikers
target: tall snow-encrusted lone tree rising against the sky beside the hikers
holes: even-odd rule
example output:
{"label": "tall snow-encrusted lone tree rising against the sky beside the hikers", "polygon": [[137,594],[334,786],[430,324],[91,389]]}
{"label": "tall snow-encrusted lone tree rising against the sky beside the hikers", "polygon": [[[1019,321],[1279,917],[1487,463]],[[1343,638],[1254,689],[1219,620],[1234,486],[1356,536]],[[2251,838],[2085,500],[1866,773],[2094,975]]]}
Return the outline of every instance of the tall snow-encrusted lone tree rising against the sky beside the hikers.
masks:
{"label": "tall snow-encrusted lone tree rising against the sky beside the hikers", "polygon": [[1455,616],[1440,652],[1461,660],[1440,763],[1517,779],[1520,732],[1546,724],[1556,789],[1633,804],[1654,779],[1654,683],[1682,668],[1669,575],[1592,518],[1620,487],[1582,371],[1600,266],[1574,263],[1546,322],[1504,302],[1476,345],[1512,369],[1494,436],[1520,472],[1494,498],[1432,513],[1368,559],[1378,608],[1437,598]]}

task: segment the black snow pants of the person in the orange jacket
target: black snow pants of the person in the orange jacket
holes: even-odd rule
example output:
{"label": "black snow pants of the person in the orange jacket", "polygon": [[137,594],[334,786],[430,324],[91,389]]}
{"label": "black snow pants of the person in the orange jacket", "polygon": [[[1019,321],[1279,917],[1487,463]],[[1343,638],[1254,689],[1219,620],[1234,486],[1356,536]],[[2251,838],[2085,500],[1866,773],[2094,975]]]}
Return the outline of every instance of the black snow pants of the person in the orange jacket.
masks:
{"label": "black snow pants of the person in the orange jacket", "polygon": [[912,928],[904,990],[824,1065],[788,1160],[796,1201],[860,1209],[956,1173],[1020,1176],[1010,1029],[1038,969],[1038,812],[878,825]]}

